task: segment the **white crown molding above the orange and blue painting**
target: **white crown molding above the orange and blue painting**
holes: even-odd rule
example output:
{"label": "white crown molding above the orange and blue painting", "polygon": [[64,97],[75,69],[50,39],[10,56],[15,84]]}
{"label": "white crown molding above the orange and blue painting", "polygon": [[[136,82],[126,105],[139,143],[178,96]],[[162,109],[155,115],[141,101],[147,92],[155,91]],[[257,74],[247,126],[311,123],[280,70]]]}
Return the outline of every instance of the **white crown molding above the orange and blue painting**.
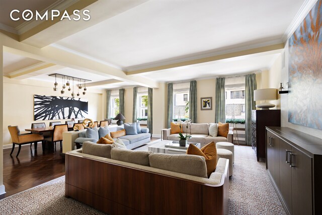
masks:
{"label": "white crown molding above the orange and blue painting", "polygon": [[306,15],[310,12],[313,6],[316,4],[317,0],[305,0],[303,5],[301,6],[300,10],[295,15],[294,19],[292,20],[291,24],[286,29],[282,39],[285,42],[290,36],[294,33],[296,28],[301,24],[304,20]]}

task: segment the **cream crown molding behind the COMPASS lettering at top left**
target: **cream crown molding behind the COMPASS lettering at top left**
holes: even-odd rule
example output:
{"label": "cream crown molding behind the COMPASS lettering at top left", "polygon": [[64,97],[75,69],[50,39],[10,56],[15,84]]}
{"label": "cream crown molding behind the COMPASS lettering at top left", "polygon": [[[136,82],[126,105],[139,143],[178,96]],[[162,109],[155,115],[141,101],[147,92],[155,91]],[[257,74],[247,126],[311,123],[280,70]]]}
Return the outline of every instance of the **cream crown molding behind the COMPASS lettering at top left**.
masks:
{"label": "cream crown molding behind the COMPASS lettering at top left", "polygon": [[[55,2],[54,4],[50,5],[49,7],[45,8],[40,12],[41,15],[43,15],[46,11],[55,9],[58,11],[65,10],[66,8],[70,7],[71,5],[77,3],[79,0],[59,0]],[[51,14],[48,13],[48,19],[51,18]],[[35,28],[37,25],[43,22],[48,22],[46,20],[37,20],[34,16],[34,18],[31,21],[26,21],[22,23],[21,25],[17,26],[16,31],[20,34],[26,33],[27,31]]]}

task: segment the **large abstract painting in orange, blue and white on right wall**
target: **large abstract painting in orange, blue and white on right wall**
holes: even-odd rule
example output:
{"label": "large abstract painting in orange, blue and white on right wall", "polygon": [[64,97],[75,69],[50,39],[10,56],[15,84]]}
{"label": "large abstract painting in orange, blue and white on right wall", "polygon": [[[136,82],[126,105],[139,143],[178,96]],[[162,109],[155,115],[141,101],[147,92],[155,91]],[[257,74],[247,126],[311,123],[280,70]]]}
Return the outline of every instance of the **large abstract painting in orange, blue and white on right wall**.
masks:
{"label": "large abstract painting in orange, blue and white on right wall", "polygon": [[322,0],[289,39],[288,121],[322,129]]}

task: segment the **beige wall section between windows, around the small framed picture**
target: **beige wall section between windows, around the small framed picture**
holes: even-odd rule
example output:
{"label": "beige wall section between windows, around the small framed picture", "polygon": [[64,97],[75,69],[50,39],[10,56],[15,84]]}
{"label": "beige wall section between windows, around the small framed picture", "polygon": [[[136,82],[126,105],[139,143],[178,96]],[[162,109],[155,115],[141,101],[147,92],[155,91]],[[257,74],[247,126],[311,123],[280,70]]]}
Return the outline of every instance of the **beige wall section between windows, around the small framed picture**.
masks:
{"label": "beige wall section between windows, around the small framed picture", "polygon": [[[215,122],[216,79],[197,81],[197,122]],[[212,110],[201,110],[201,98],[212,97]]]}

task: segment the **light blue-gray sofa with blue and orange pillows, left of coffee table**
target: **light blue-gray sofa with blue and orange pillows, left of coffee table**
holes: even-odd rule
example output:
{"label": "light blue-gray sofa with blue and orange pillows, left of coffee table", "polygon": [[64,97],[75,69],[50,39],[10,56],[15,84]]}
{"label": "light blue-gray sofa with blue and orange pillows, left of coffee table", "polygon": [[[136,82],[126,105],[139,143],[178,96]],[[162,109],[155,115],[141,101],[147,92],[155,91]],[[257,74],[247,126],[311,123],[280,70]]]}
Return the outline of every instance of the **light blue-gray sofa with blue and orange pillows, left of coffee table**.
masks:
{"label": "light blue-gray sofa with blue and orange pillows, left of coffee table", "polygon": [[[124,129],[124,125],[120,126],[114,126],[114,127],[105,127],[108,128],[108,134],[110,132],[118,131]],[[92,128],[92,129],[98,129],[98,128]],[[148,128],[141,128],[142,133],[133,134],[133,135],[125,135],[120,136],[119,139],[121,139],[124,142],[124,145],[127,149],[134,149],[136,147],[142,146],[144,144],[147,144],[150,141],[151,134],[149,133]],[[106,135],[106,134],[105,134]],[[99,135],[99,138],[101,138],[103,135]],[[116,138],[114,138],[116,140]],[[91,142],[97,142],[98,139],[96,138],[87,138],[86,137],[86,129],[83,132],[80,132],[78,134],[78,138],[75,139],[75,145],[77,149],[80,149],[83,146],[83,142],[85,141],[91,141]]]}

